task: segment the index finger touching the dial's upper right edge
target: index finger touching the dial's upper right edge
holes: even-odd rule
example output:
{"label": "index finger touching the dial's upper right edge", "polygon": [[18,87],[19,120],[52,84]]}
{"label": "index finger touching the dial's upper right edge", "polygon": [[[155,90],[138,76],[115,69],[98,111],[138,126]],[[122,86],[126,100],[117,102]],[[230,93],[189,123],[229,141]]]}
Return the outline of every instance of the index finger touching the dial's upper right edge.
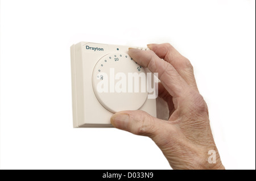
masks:
{"label": "index finger touching the dial's upper right edge", "polygon": [[152,73],[158,73],[158,78],[171,96],[175,98],[185,96],[189,86],[171,64],[160,59],[151,50],[131,48],[129,54],[139,65],[147,67]]}

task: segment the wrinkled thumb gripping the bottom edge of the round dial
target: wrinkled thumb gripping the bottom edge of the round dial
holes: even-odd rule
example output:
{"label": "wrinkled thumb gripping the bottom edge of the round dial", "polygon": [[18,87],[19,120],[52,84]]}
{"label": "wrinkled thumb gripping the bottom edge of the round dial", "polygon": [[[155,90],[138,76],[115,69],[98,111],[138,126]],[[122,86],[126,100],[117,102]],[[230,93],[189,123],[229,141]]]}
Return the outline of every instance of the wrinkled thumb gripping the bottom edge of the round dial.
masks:
{"label": "wrinkled thumb gripping the bottom edge of the round dial", "polygon": [[115,113],[110,119],[115,128],[133,134],[148,136],[158,145],[166,142],[166,134],[170,134],[174,125],[167,121],[152,117],[144,111],[121,111]]}

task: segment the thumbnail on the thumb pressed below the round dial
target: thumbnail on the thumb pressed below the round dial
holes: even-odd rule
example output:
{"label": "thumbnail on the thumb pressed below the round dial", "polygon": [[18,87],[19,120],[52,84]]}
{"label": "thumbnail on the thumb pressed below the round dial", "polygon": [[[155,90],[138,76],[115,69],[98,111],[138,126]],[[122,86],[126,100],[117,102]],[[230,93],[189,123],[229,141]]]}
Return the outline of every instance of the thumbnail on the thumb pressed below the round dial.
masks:
{"label": "thumbnail on the thumb pressed below the round dial", "polygon": [[129,124],[129,115],[124,113],[115,113],[110,118],[111,124],[118,129],[126,129]]}

